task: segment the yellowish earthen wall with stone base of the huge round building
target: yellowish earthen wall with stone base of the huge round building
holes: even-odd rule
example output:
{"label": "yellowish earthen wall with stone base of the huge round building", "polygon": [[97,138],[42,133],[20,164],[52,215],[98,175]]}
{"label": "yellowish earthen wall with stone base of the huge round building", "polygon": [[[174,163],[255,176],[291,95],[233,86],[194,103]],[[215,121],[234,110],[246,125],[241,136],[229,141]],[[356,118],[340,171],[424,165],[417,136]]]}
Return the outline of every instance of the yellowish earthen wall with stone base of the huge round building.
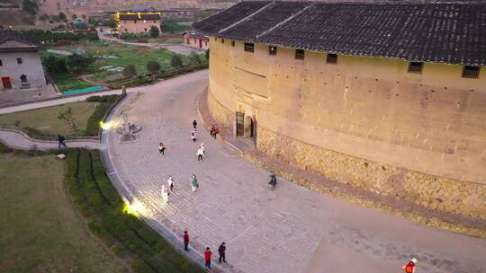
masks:
{"label": "yellowish earthen wall with stone base of the huge round building", "polygon": [[[208,103],[230,126],[257,120],[257,147],[332,179],[427,207],[486,217],[486,76],[462,66],[211,40]],[[219,106],[217,106],[219,105]],[[221,110],[226,109],[226,110]],[[276,133],[275,133],[276,132]],[[383,166],[383,167],[382,167]],[[406,193],[406,194],[405,194]]]}

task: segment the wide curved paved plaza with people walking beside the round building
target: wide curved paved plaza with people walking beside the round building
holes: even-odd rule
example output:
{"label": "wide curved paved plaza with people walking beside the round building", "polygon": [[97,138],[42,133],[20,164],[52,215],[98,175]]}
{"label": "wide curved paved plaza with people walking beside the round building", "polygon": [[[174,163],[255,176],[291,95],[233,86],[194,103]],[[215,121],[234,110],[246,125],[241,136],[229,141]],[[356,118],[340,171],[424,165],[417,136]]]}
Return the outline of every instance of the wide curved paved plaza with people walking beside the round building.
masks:
{"label": "wide curved paved plaza with people walking beside the round building", "polygon": [[[223,268],[231,272],[401,272],[412,257],[419,260],[418,272],[486,272],[486,240],[410,223],[288,181],[279,180],[270,191],[268,172],[213,140],[202,126],[192,143],[194,100],[206,85],[202,71],[130,96],[113,120],[127,113],[143,128],[139,140],[121,144],[110,131],[103,147],[139,213],[177,236],[188,230],[195,251],[210,246],[217,252],[227,242],[231,266]],[[160,141],[165,155],[158,154]],[[201,142],[207,157],[196,163]],[[201,185],[195,193],[189,186],[193,173]],[[169,174],[175,192],[165,205],[160,189]]]}

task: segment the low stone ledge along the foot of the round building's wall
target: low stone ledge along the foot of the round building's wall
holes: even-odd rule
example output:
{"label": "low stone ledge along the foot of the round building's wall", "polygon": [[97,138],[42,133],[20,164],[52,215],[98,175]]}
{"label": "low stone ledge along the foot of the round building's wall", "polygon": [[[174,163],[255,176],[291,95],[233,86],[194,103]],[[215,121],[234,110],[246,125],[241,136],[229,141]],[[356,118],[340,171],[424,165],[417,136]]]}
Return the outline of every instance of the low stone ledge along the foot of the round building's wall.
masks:
{"label": "low stone ledge along the foot of the round building's wall", "polygon": [[[203,126],[205,128],[210,129],[211,128],[210,124],[216,124],[216,122],[209,122],[209,120],[207,120],[208,117],[204,117],[204,115],[202,115],[202,111],[201,111],[201,107],[204,107],[204,108],[208,107],[207,101],[206,101],[207,93],[208,93],[208,89],[206,88],[196,98],[195,105],[196,105],[196,108],[197,108],[197,113],[199,115],[199,118],[202,120]],[[206,98],[204,98],[204,96]],[[209,110],[208,110],[208,112],[209,112]],[[209,115],[211,115],[210,112],[209,112]],[[226,133],[228,133],[228,132],[226,132]],[[419,223],[419,224],[422,224],[422,225],[428,225],[428,226],[444,229],[444,230],[454,232],[454,233],[463,233],[465,235],[469,235],[469,236],[473,236],[473,237],[486,238],[486,225],[484,226],[484,228],[477,228],[477,227],[472,227],[472,226],[468,226],[468,225],[463,225],[461,223],[451,223],[451,222],[448,222],[448,221],[444,221],[440,218],[437,218],[436,216],[433,216],[433,217],[423,216],[423,215],[420,215],[420,214],[417,214],[417,213],[410,212],[410,210],[409,211],[401,210],[398,207],[393,207],[389,204],[384,204],[382,202],[374,200],[373,198],[361,198],[361,197],[358,197],[358,196],[355,196],[355,195],[352,195],[352,194],[339,192],[338,190],[333,189],[333,187],[328,188],[328,187],[326,187],[324,185],[320,185],[320,184],[318,184],[314,181],[306,181],[306,180],[300,179],[293,172],[287,172],[287,171],[284,171],[284,169],[282,169],[282,168],[278,168],[276,166],[269,166],[269,165],[266,165],[265,163],[262,163],[262,161],[260,160],[260,158],[258,158],[257,155],[250,154],[250,153],[247,153],[247,152],[239,149],[236,145],[231,144],[226,139],[226,137],[224,137],[223,135],[224,134],[220,134],[217,137],[217,139],[220,140],[222,143],[228,145],[229,147],[231,147],[235,151],[237,151],[238,154],[240,154],[241,157],[243,157],[245,160],[247,160],[247,162],[252,163],[254,165],[257,165],[257,166],[264,168],[266,170],[271,169],[278,176],[281,176],[288,181],[293,181],[294,183],[296,183],[299,186],[302,186],[302,187],[305,187],[305,188],[308,188],[308,189],[312,189],[314,191],[317,191],[317,192],[320,192],[320,193],[323,193],[323,194],[330,194],[333,197],[345,199],[347,201],[351,201],[351,202],[353,202],[357,205],[363,206],[363,207],[370,207],[370,208],[374,208],[374,209],[377,209],[377,210],[385,212],[385,213],[392,214],[394,216],[401,216],[401,217],[404,217],[404,218],[406,218],[406,219],[408,219],[412,222]],[[419,206],[419,205],[417,205],[417,206]],[[428,208],[426,208],[426,209],[428,209]]]}

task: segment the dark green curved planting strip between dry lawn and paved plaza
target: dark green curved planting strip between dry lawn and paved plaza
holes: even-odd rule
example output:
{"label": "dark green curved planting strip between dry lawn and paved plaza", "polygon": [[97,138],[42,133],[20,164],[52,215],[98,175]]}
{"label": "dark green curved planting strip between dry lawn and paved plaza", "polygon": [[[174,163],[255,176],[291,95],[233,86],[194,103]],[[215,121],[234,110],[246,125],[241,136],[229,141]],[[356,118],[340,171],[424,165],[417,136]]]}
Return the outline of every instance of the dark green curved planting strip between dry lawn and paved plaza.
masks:
{"label": "dark green curved planting strip between dry lawn and paved plaza", "polygon": [[202,272],[139,218],[123,212],[125,204],[106,176],[98,151],[71,149],[66,182],[90,229],[111,249],[130,257],[135,272]]}

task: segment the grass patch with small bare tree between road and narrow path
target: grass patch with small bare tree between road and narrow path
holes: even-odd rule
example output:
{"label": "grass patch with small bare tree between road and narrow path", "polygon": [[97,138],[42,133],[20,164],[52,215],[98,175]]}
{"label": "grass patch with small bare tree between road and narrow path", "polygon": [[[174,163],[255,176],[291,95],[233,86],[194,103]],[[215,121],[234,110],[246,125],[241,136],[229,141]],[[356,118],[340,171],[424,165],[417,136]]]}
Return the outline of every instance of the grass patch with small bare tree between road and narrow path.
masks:
{"label": "grass patch with small bare tree between road and narrow path", "polygon": [[[41,135],[57,136],[82,136],[85,133],[87,120],[94,113],[99,102],[79,101],[62,105],[56,105],[35,110],[26,110],[10,114],[0,115],[0,125],[14,125],[20,128],[33,128]],[[67,122],[58,119],[59,110],[71,107],[73,116],[76,117],[77,128],[71,129]]]}

